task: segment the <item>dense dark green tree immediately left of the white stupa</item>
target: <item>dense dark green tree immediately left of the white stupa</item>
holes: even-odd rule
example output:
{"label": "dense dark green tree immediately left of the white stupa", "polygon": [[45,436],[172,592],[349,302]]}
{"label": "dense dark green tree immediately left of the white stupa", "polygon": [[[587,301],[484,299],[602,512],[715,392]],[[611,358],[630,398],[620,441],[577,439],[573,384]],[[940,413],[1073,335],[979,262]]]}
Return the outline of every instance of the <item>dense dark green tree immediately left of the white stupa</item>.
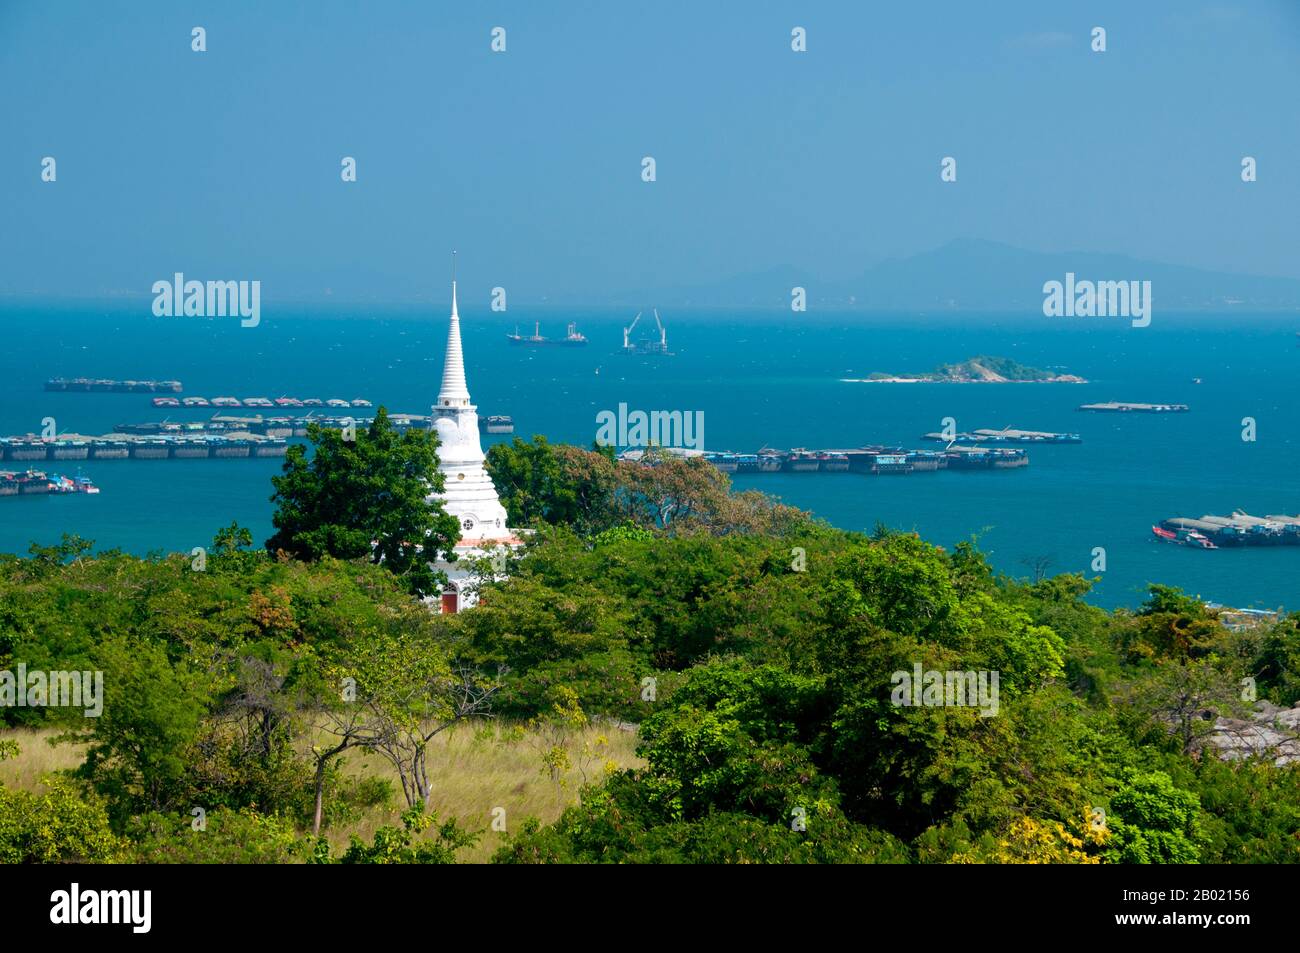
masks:
{"label": "dense dark green tree immediately left of the white stupa", "polygon": [[454,558],[460,528],[441,503],[426,502],[443,489],[437,434],[411,428],[399,436],[380,407],[354,441],[318,424],[307,437],[311,458],[302,445],[292,446],[283,473],[272,477],[277,532],[266,549],[303,560],[369,559],[412,593],[438,592],[446,579],[429,564],[438,554]]}

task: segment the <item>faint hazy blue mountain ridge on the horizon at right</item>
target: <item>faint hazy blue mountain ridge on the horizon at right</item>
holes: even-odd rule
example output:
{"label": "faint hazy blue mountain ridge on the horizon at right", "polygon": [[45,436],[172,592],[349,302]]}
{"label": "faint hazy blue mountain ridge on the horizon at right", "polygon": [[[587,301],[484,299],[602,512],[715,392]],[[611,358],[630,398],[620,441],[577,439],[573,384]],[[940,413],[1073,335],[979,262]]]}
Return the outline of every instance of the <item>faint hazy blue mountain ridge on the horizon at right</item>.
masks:
{"label": "faint hazy blue mountain ridge on the horizon at right", "polygon": [[1043,285],[1065,281],[1149,281],[1164,311],[1300,308],[1300,280],[1209,272],[1100,252],[1034,252],[982,239],[888,259],[859,278],[822,282],[793,267],[685,289],[638,293],[660,307],[789,307],[807,289],[809,307],[889,311],[1039,311]]}

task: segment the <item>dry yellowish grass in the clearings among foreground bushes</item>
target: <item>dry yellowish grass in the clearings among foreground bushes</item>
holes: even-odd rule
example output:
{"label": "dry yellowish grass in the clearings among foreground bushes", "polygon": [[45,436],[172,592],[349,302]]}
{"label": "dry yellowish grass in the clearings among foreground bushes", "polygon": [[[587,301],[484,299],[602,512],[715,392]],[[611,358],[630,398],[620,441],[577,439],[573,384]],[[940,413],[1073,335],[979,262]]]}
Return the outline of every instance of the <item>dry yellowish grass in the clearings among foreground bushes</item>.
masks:
{"label": "dry yellowish grass in the clearings among foreground bushes", "polygon": [[[4,731],[0,738],[17,741],[21,754],[0,762],[0,784],[35,790],[42,775],[77,767],[82,750],[73,745],[51,746],[53,731]],[[603,742],[602,742],[603,738]],[[506,810],[506,829],[514,832],[528,816],[550,823],[577,802],[578,788],[598,781],[606,762],[618,768],[637,767],[636,732],[601,725],[575,732],[567,738],[573,766],[562,783],[552,781],[543,768],[542,751],[547,742],[537,732],[499,722],[467,723],[434,738],[429,749],[429,776],[433,779],[432,807],[439,820],[456,818],[463,827],[481,831],[478,844],[462,852],[464,862],[484,862],[500,846],[504,833],[491,829],[493,809]],[[582,758],[586,746],[592,754]],[[355,776],[378,776],[393,784],[394,803],[389,809],[372,809],[356,823],[325,831],[337,848],[344,846],[351,835],[369,841],[376,828],[399,826],[402,784],[396,772],[377,754],[348,751],[344,772]]]}

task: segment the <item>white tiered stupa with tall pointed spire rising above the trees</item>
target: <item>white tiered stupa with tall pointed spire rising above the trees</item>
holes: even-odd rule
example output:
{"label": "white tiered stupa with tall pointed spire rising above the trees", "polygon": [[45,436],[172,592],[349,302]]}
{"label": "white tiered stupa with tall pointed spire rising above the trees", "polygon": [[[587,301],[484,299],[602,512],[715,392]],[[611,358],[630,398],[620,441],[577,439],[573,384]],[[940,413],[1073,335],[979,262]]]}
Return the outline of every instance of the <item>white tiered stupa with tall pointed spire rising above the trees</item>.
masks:
{"label": "white tiered stupa with tall pointed spire rising above the trees", "polygon": [[[454,259],[452,259],[454,261]],[[442,593],[442,611],[458,612],[477,601],[469,564],[477,558],[491,556],[523,545],[506,525],[506,507],[497,497],[497,488],[484,468],[484,449],[478,441],[478,408],[469,402],[465,385],[465,359],[460,347],[460,315],[456,312],[456,278],[452,265],[451,328],[447,330],[447,356],[442,364],[442,389],[433,406],[433,429],[438,433],[438,469],[443,490],[432,493],[428,502],[442,503],[443,510],[460,523],[456,562],[438,560],[436,567],[450,580]]]}

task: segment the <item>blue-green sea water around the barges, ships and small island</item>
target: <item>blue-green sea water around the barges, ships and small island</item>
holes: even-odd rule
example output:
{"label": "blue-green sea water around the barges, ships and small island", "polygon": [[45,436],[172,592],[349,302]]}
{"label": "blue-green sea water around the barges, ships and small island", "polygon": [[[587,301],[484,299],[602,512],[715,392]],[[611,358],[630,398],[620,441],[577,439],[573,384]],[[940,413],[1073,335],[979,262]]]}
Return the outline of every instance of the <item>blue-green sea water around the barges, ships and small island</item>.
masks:
{"label": "blue-green sea water around the barges, ships and small island", "polygon": [[[0,306],[0,433],[104,433],[118,423],[202,419],[159,411],[140,394],[47,394],[53,376],[179,378],[204,397],[365,397],[390,411],[425,413],[438,391],[446,306],[283,308],[261,325],[233,319],[156,319],[148,300]],[[469,389],[481,415],[510,413],[516,433],[589,445],[595,415],[702,411],[708,449],[924,446],[944,417],[958,429],[1014,426],[1082,433],[1080,446],[1034,447],[1028,468],[989,473],[754,475],[736,484],[780,495],[831,523],[914,529],[952,545],[972,534],[993,564],[1028,575],[1088,571],[1095,547],[1106,572],[1104,606],[1136,605],[1148,582],[1183,586],[1239,606],[1295,606],[1300,547],[1196,551],[1150,541],[1167,516],[1300,512],[1296,434],[1300,348],[1296,316],[1156,313],[1127,321],[1043,317],[868,316],[718,311],[664,315],[671,359],[619,354],[623,311],[463,308]],[[508,347],[504,333],[542,321],[562,335],[576,320],[592,345]],[[864,385],[872,371],[924,371],[979,354],[1065,368],[1087,385]],[[1193,378],[1201,378],[1195,384]],[[1096,400],[1188,403],[1191,413],[1079,413]],[[1243,417],[1257,439],[1242,439]],[[488,438],[508,439],[508,438]],[[8,464],[12,465],[12,464]],[[53,464],[47,463],[53,468]],[[277,460],[90,462],[98,497],[0,499],[0,551],[64,532],[131,553],[188,551],[230,520],[270,532]],[[1089,575],[1092,575],[1089,572]]]}

